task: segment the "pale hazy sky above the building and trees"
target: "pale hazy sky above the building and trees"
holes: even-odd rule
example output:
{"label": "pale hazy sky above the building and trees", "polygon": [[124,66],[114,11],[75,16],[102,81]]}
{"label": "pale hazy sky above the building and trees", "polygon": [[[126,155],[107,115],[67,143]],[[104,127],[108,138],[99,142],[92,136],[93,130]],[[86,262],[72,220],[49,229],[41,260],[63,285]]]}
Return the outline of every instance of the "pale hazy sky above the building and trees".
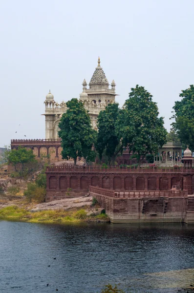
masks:
{"label": "pale hazy sky above the building and trees", "polygon": [[194,0],[1,1],[0,147],[45,138],[49,89],[57,102],[79,98],[98,56],[117,102],[145,86],[169,130],[174,101],[194,84],[193,11]]}

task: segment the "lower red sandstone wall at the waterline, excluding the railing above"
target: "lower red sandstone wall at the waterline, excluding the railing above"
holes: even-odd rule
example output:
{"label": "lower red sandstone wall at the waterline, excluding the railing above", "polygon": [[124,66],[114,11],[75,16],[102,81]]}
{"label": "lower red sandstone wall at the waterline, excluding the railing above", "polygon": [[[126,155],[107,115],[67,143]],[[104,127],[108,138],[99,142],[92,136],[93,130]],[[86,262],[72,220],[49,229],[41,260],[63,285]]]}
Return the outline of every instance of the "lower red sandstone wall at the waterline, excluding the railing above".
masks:
{"label": "lower red sandstone wall at the waterline, excluding the railing above", "polygon": [[184,222],[188,199],[173,198],[110,198],[90,193],[106,210],[112,223]]}

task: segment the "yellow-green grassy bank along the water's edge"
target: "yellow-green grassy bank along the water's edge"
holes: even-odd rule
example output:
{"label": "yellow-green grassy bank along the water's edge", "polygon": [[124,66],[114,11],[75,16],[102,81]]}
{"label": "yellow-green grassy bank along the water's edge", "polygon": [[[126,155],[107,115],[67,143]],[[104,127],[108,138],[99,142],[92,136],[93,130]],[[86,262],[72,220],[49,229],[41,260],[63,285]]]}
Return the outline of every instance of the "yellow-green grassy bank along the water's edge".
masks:
{"label": "yellow-green grassy bank along the water's edge", "polygon": [[43,210],[31,212],[29,210],[22,209],[17,206],[10,206],[0,209],[0,220],[22,221],[30,223],[63,224],[83,221],[108,222],[108,216],[106,214],[100,214],[97,216],[87,216],[85,209],[79,209],[76,211]]}

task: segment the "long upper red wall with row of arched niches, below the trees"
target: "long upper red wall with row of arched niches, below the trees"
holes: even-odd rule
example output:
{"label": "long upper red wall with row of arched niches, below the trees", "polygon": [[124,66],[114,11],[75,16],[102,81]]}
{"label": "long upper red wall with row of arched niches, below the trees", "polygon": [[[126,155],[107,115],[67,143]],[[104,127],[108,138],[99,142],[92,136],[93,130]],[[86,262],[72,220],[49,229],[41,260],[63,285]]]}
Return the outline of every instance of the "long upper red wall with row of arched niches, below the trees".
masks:
{"label": "long upper red wall with row of arched niches, below the trees", "polygon": [[164,191],[177,187],[194,193],[194,169],[125,168],[125,167],[66,167],[50,166],[46,170],[47,197],[55,194],[64,198],[67,188],[87,192],[89,186],[112,190]]}

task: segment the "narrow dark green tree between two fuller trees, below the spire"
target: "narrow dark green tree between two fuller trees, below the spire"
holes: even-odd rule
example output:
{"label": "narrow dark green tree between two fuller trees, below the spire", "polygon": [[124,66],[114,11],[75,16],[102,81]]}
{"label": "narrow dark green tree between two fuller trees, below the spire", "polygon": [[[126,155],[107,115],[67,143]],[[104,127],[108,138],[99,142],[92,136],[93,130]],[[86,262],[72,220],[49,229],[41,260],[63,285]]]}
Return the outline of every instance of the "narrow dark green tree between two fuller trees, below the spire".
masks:
{"label": "narrow dark green tree between two fuller trees, below the spire", "polygon": [[98,115],[98,137],[96,150],[99,153],[100,160],[102,159],[103,151],[108,157],[108,161],[114,166],[116,156],[123,150],[123,142],[120,133],[115,130],[117,118],[121,110],[118,104],[109,104],[104,111]]}

